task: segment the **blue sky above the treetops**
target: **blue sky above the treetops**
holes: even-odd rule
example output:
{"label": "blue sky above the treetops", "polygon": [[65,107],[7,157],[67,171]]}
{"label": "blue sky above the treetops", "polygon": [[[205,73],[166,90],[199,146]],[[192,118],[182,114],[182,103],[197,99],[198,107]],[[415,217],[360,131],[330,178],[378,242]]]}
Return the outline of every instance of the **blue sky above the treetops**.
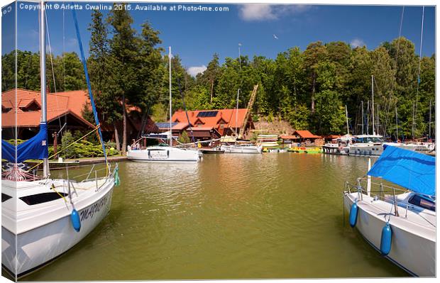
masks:
{"label": "blue sky above the treetops", "polygon": [[[56,2],[53,3],[55,5]],[[78,3],[79,28],[86,54],[90,33],[87,30],[92,11],[88,2]],[[20,6],[22,4],[22,6]],[[38,10],[29,11],[18,3],[18,49],[38,51]],[[58,3],[61,4],[61,3]],[[96,4],[90,2],[90,4]],[[102,4],[102,3],[101,3]],[[109,2],[104,4],[109,5]],[[148,6],[140,3],[140,6]],[[366,45],[377,48],[380,43],[397,38],[400,28],[402,6],[340,6],[340,5],[279,5],[268,4],[202,4],[204,7],[227,7],[229,11],[169,11],[170,6],[179,4],[158,4],[167,6],[168,11],[133,11],[133,27],[140,30],[141,23],[149,21],[160,30],[163,47],[172,46],[173,54],[182,59],[182,64],[195,73],[203,70],[214,52],[225,57],[241,54],[253,57],[263,55],[274,58],[278,52],[298,46],[301,50],[309,43],[321,40],[324,43],[341,40],[353,46]],[[199,4],[180,4],[199,6]],[[102,11],[106,16],[107,11]],[[12,13],[11,13],[12,14]],[[11,15],[2,17],[2,54],[10,52]],[[50,43],[53,52],[63,50],[61,9],[48,10]],[[6,23],[6,24],[5,24]],[[402,36],[415,44],[419,54],[422,6],[405,6]],[[79,53],[71,11],[65,11],[65,51]],[[435,9],[425,6],[422,55],[435,53]]]}

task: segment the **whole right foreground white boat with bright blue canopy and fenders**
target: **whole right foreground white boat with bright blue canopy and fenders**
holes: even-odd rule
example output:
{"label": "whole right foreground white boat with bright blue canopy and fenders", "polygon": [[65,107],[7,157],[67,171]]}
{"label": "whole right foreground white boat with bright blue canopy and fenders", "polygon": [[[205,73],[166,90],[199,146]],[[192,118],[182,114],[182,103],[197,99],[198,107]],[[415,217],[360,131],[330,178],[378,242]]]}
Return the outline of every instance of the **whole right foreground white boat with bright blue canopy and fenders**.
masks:
{"label": "whole right foreground white boat with bright blue canopy and fenders", "polygon": [[368,177],[356,185],[346,182],[343,193],[350,225],[383,256],[419,277],[436,276],[435,170],[434,157],[390,146]]}

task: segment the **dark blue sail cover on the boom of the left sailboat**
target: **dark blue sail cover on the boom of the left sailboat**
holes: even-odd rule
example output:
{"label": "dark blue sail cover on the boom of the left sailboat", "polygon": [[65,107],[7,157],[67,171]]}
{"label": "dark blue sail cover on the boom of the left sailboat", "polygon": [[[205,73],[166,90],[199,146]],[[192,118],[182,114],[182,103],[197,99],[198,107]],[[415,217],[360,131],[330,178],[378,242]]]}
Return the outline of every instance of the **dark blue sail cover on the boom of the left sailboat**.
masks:
{"label": "dark blue sail cover on the boom of the left sailboat", "polygon": [[10,162],[23,162],[28,159],[43,159],[48,157],[48,126],[46,123],[40,123],[40,131],[33,138],[17,145],[16,147],[6,140],[1,140],[1,158]]}

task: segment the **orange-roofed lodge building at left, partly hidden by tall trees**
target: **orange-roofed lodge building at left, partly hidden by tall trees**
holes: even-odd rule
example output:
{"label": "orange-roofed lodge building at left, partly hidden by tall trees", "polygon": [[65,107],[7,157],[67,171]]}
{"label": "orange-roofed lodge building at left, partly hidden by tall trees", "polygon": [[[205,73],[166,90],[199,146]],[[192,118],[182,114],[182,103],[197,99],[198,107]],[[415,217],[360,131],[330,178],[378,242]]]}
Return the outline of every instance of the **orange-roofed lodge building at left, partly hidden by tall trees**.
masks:
{"label": "orange-roofed lodge building at left, partly hidden by tall trees", "polygon": [[[53,143],[53,133],[60,131],[92,131],[94,122],[90,123],[82,115],[84,109],[92,111],[89,94],[87,91],[62,91],[47,94],[47,120],[48,140]],[[144,133],[157,133],[159,130],[155,123],[148,116],[142,121],[140,109],[134,106],[127,106],[127,140],[137,138],[141,127],[144,126]],[[115,140],[116,128],[119,135],[122,134],[122,122],[116,124],[106,123],[105,117],[99,115],[101,131],[104,140]],[[32,138],[38,133],[41,119],[41,94],[40,91],[26,89],[10,89],[1,94],[1,128],[2,139],[14,138],[17,130],[17,137],[21,140]],[[120,139],[122,142],[122,139]]]}

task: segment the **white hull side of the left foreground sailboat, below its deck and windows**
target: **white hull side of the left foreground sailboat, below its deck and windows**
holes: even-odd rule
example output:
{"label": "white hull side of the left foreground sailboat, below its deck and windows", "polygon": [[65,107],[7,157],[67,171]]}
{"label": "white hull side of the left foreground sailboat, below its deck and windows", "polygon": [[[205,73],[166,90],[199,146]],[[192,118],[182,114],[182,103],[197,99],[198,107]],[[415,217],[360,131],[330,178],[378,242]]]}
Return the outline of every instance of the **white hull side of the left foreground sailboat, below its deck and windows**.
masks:
{"label": "white hull side of the left foreground sailboat, below its deck and windows", "polygon": [[6,225],[1,226],[1,265],[6,271],[22,277],[55,260],[86,237],[109,213],[114,189],[113,177],[101,184],[98,192],[94,188],[95,183],[95,180],[77,183],[93,187],[92,192],[84,193],[89,194],[86,198],[80,199],[79,195],[76,203],[74,198],[81,220],[79,232],[75,231],[70,220],[72,206],[62,199],[51,201],[57,202],[51,206],[53,210],[35,209],[32,214],[18,211],[15,227],[10,225],[14,220],[9,219],[13,212],[4,211],[2,215]]}

